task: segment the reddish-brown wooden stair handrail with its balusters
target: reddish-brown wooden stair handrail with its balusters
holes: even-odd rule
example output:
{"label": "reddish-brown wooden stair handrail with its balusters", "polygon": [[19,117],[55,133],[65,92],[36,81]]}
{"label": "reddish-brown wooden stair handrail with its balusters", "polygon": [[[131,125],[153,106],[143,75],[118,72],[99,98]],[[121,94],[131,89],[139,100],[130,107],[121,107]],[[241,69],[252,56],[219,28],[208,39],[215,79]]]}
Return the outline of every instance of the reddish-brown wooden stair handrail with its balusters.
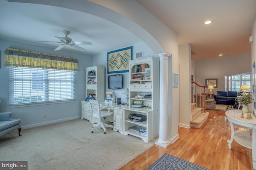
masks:
{"label": "reddish-brown wooden stair handrail with its balusters", "polygon": [[[199,84],[197,84],[194,80],[191,80],[192,81],[192,83],[194,84],[194,85],[196,85],[195,86],[195,88],[194,88],[194,96],[195,95],[202,95],[203,96],[203,102],[201,103],[201,100],[199,100],[199,107],[201,107],[202,106],[202,111],[203,112],[205,112],[205,86],[201,86],[201,85],[199,85]],[[198,93],[198,91],[199,91],[199,93]],[[194,96],[193,96],[193,102],[194,103],[196,103],[196,106],[198,107],[198,97],[196,97],[196,99],[194,98]]]}

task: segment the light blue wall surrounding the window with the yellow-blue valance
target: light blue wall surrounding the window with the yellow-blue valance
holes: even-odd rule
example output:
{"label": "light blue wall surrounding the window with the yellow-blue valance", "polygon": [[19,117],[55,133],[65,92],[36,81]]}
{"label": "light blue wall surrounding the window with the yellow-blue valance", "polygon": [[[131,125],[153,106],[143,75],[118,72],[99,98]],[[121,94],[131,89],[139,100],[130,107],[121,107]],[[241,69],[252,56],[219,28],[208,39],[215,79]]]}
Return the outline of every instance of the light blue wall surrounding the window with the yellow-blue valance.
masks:
{"label": "light blue wall surrounding the window with the yellow-blue valance", "polygon": [[[76,72],[75,102],[47,104],[29,107],[8,107],[8,67],[4,66],[4,50],[6,48],[24,49],[47,54],[63,55],[78,59]],[[92,56],[79,53],[70,53],[63,50],[54,51],[47,47],[40,47],[16,41],[0,39],[0,112],[12,112],[14,119],[21,119],[24,128],[36,127],[69,119],[81,117],[81,102],[86,98],[86,67],[92,66]],[[46,114],[46,118],[43,115]]]}

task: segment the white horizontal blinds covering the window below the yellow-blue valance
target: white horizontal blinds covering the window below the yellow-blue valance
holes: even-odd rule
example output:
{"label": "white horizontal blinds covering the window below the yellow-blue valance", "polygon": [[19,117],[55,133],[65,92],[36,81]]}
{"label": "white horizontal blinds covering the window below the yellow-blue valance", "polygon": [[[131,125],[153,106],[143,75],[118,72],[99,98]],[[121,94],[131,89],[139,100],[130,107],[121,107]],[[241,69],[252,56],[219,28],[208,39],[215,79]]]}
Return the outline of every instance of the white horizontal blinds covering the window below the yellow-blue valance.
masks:
{"label": "white horizontal blinds covering the window below the yellow-blue valance", "polygon": [[74,100],[75,71],[9,68],[9,105]]}

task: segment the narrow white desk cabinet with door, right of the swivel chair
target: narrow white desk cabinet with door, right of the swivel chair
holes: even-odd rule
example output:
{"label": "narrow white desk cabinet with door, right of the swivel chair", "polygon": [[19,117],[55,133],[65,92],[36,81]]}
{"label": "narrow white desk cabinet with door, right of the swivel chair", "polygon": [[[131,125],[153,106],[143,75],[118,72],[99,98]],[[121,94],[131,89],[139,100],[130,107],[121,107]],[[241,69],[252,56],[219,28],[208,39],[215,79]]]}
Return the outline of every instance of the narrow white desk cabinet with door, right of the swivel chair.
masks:
{"label": "narrow white desk cabinet with door, right of the swivel chair", "polygon": [[123,133],[123,120],[124,120],[124,109],[114,108],[114,131]]}

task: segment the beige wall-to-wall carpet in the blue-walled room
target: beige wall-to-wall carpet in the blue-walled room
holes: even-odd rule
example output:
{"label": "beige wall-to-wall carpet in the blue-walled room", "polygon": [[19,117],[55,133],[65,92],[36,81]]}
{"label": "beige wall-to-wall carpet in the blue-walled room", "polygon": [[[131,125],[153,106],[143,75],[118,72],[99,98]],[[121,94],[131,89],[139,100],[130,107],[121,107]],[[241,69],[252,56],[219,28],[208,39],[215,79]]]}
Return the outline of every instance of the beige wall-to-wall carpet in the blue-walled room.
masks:
{"label": "beige wall-to-wall carpet in the blue-walled room", "polygon": [[76,119],[25,129],[20,137],[13,131],[0,137],[0,160],[28,161],[28,170],[117,170],[155,143],[91,127]]}

